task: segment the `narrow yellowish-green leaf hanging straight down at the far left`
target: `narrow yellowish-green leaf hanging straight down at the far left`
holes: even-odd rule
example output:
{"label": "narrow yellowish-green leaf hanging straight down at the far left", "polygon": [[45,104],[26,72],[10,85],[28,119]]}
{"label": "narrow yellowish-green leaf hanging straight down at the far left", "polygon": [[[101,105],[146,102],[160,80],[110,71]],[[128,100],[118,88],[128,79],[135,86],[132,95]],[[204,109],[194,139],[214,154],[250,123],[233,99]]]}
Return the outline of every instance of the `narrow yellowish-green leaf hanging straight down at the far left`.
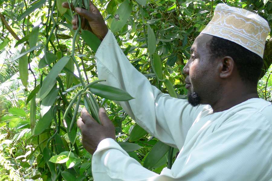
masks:
{"label": "narrow yellowish-green leaf hanging straight down at the far left", "polygon": [[[25,52],[24,46],[21,49],[21,54]],[[24,87],[28,86],[28,56],[24,55],[19,59],[19,74]]]}

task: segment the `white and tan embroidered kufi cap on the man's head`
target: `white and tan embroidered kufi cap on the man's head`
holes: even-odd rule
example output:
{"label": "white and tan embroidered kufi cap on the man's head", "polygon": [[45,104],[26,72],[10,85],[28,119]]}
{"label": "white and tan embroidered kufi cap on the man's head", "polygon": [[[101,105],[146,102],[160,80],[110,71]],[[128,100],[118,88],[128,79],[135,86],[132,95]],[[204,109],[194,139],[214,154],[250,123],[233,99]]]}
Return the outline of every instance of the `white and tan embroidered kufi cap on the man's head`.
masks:
{"label": "white and tan embroidered kufi cap on the man's head", "polygon": [[263,58],[269,32],[267,21],[258,14],[218,4],[212,20],[201,33],[235,42]]}

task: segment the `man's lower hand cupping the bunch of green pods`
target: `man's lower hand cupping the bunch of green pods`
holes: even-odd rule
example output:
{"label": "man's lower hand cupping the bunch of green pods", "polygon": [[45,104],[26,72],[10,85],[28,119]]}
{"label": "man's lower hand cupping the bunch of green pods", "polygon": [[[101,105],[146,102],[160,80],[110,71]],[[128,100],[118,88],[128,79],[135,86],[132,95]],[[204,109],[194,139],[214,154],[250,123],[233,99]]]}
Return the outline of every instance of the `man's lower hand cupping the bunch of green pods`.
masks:
{"label": "man's lower hand cupping the bunch of green pods", "polygon": [[100,125],[95,119],[83,108],[81,118],[77,120],[77,126],[82,132],[83,147],[93,154],[96,151],[97,145],[105,138],[115,140],[115,127],[111,120],[108,119],[104,108],[99,109]]}

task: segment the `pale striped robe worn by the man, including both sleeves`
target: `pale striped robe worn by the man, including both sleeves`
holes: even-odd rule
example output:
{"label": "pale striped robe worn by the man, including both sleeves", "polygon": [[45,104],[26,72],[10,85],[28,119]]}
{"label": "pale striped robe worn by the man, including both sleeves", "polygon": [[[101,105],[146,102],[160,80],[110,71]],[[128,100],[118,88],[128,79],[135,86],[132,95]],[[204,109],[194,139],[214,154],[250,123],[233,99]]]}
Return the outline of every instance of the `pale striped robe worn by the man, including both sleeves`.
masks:
{"label": "pale striped robe worn by the man, including both sleeves", "polygon": [[135,99],[119,102],[139,125],[180,150],[172,169],[145,169],[111,138],[92,158],[95,181],[272,180],[272,105],[253,98],[213,113],[163,94],[128,61],[112,32],[96,52],[99,79]]}

